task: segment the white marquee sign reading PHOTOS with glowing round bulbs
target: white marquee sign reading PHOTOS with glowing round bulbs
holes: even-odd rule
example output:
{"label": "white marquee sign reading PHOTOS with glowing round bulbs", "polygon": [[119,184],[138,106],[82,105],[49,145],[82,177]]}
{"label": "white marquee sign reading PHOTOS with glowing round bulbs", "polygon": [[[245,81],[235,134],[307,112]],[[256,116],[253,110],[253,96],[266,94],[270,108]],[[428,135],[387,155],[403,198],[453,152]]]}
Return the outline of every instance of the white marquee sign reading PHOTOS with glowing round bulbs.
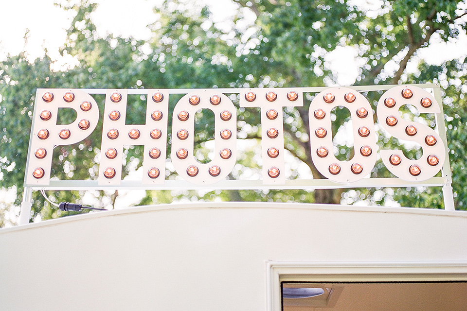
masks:
{"label": "white marquee sign reading PHOTOS with glowing round bulbs", "polygon": [[[377,124],[389,135],[413,141],[423,150],[407,158],[400,150],[378,150],[373,110],[361,91],[384,90],[376,108]],[[309,107],[309,148],[325,180],[289,180],[284,161],[283,108],[303,106],[306,92],[316,94]],[[99,107],[93,94],[106,94],[97,180],[51,180],[53,149],[77,143],[96,129]],[[145,124],[126,124],[128,94],[147,96]],[[169,96],[184,94],[173,110],[171,155],[166,154]],[[226,94],[238,94],[240,107],[259,107],[261,113],[262,180],[229,180],[236,163],[237,109]],[[403,105],[435,115],[436,131],[399,115]],[[338,160],[333,153],[331,112],[348,108],[352,120],[354,155]],[[77,118],[57,124],[59,108],[72,108]],[[214,113],[215,156],[200,163],[194,155],[195,113]],[[451,183],[443,110],[438,85],[297,87],[245,89],[38,89],[33,115],[25,187],[33,189],[262,189],[342,188]],[[143,145],[143,179],[122,180],[125,146]],[[393,178],[371,178],[378,156]],[[165,180],[170,158],[183,180]],[[439,176],[439,172],[441,176]],[[209,186],[207,186],[209,185]]]}

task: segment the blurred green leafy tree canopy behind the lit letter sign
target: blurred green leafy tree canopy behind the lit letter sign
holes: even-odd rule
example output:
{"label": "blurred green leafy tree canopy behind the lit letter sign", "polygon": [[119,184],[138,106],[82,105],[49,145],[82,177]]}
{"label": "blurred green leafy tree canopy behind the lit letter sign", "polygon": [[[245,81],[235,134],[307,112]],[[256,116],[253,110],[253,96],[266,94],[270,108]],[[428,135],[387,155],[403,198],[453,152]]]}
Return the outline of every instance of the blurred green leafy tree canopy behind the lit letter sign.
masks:
{"label": "blurred green leafy tree canopy behind the lit letter sign", "polygon": [[[401,83],[440,83],[443,90],[445,121],[448,127],[449,158],[453,173],[455,205],[467,208],[466,127],[467,127],[467,63],[465,54],[443,59],[440,64],[427,63],[419,55],[437,42],[452,43],[466,35],[467,2],[436,0],[380,1],[368,7],[358,1],[343,0],[225,0],[236,5],[229,26],[213,22],[208,6],[193,1],[166,0],[154,8],[159,19],[148,25],[152,38],[147,41],[132,37],[101,37],[96,32],[92,13],[96,4],[82,0],[63,6],[75,12],[61,54],[70,54],[77,65],[53,70],[54,59],[28,59],[25,52],[9,55],[0,64],[0,183],[3,192],[17,193],[14,202],[0,200],[0,226],[11,224],[18,215],[28,152],[29,133],[36,88],[212,88],[212,87],[281,87],[335,86],[339,84],[330,55],[338,52],[353,55],[357,69],[353,85]],[[198,1],[196,1],[198,3]],[[253,19],[248,18],[254,14]],[[27,39],[27,34],[25,34]],[[464,51],[466,47],[463,48]],[[340,54],[339,54],[340,53]],[[410,68],[409,68],[410,65]],[[350,66],[350,65],[349,65]],[[314,178],[323,178],[311,161],[308,108],[314,94],[309,94],[304,107],[284,110],[285,147],[298,163],[309,168]],[[380,94],[366,94],[373,107]],[[103,104],[102,96],[95,96]],[[170,102],[173,110],[176,99]],[[135,99],[133,111],[144,111],[143,101]],[[237,106],[238,108],[238,106]],[[240,108],[238,108],[240,109]],[[237,121],[238,138],[258,140],[260,117],[250,108],[241,108]],[[341,109],[343,110],[343,109]],[[413,112],[408,109],[406,113]],[[102,111],[101,111],[102,114]],[[345,111],[336,111],[333,134],[343,130],[349,119]],[[72,120],[63,111],[63,122]],[[144,122],[144,114],[132,113],[134,124]],[[205,144],[212,139],[210,116],[197,125],[195,144],[198,159],[203,159]],[[170,126],[170,124],[169,124]],[[102,124],[100,124],[102,128]],[[99,128],[99,126],[98,126]],[[170,130],[169,130],[170,133]],[[96,131],[79,144],[56,148],[54,174],[61,179],[87,178],[98,172],[95,162],[99,154],[91,144],[100,139]],[[378,136],[379,148],[398,146],[402,142],[385,135]],[[170,146],[168,146],[170,148]],[[337,145],[342,159],[353,147]],[[419,149],[406,150],[417,156]],[[140,166],[138,147],[126,150],[126,171]],[[170,152],[168,152],[169,154]],[[246,150],[233,174],[242,167],[260,170],[252,161],[255,151]],[[136,159],[136,161],[132,161]],[[387,175],[381,161],[376,169]],[[293,170],[292,170],[293,171]],[[289,178],[297,177],[297,168]],[[174,172],[169,172],[174,174]],[[73,177],[74,176],[74,177]],[[174,200],[278,201],[370,205],[399,204],[412,207],[443,208],[439,188],[394,188],[356,190],[230,190],[200,193],[197,191],[146,191],[137,204],[170,203]],[[83,191],[48,193],[56,202],[80,202]],[[91,191],[100,207],[111,207],[118,192]],[[34,193],[33,218],[56,218],[63,213]]]}

